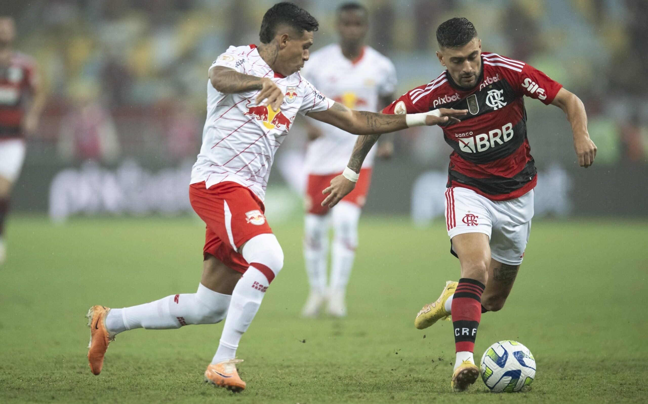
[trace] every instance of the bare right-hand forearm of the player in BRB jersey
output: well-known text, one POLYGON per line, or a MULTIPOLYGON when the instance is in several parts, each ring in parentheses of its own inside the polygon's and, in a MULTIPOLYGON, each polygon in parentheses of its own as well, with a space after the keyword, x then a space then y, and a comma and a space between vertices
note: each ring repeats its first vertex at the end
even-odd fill
POLYGON ((594 164, 596 145, 587 131, 587 114, 583 101, 572 92, 560 89, 551 104, 562 109, 572 125, 573 148, 578 156, 578 164, 585 168, 594 164))

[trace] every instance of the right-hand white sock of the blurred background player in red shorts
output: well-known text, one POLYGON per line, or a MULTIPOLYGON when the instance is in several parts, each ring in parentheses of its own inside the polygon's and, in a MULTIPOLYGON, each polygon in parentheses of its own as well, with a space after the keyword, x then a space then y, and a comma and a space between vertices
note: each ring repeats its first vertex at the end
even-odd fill
POLYGON ((330 287, 334 292, 344 293, 351 277, 358 246, 360 212, 360 207, 349 202, 340 202, 331 209, 334 239, 330 287))

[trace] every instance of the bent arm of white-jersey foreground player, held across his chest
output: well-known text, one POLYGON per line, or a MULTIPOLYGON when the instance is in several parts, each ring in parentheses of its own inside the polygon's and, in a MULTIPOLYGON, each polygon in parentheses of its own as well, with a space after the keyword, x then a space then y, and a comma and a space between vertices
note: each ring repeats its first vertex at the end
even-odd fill
POLYGON ((277 111, 283 102, 284 92, 269 78, 250 76, 224 66, 214 66, 209 69, 209 81, 214 89, 223 94, 237 94, 260 90, 257 104, 270 105, 277 111))

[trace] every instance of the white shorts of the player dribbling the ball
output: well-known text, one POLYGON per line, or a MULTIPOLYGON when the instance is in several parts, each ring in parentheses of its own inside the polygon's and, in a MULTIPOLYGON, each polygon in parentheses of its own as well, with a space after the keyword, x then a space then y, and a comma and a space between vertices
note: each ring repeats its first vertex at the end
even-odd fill
POLYGON ((508 265, 522 263, 531 233, 533 189, 522 197, 502 201, 462 187, 450 187, 445 195, 450 240, 458 234, 484 233, 491 240, 493 259, 508 265))

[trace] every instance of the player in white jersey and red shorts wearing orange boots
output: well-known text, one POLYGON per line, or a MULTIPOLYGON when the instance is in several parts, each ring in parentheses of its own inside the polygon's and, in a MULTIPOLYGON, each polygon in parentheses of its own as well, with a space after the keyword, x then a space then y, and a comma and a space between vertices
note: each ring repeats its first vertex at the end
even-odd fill
POLYGON ((459 122, 456 117, 467 113, 378 114, 353 111, 326 98, 299 73, 317 28, 306 10, 277 3, 263 17, 259 47, 229 47, 210 67, 203 144, 189 187, 192 207, 207 224, 198 291, 121 309, 91 307, 88 360, 93 374, 101 372, 108 344, 120 332, 214 324, 227 317, 205 381, 243 390, 246 383, 236 368, 242 360, 235 359, 238 343, 283 266, 263 198, 275 151, 297 113, 355 134, 459 122))

